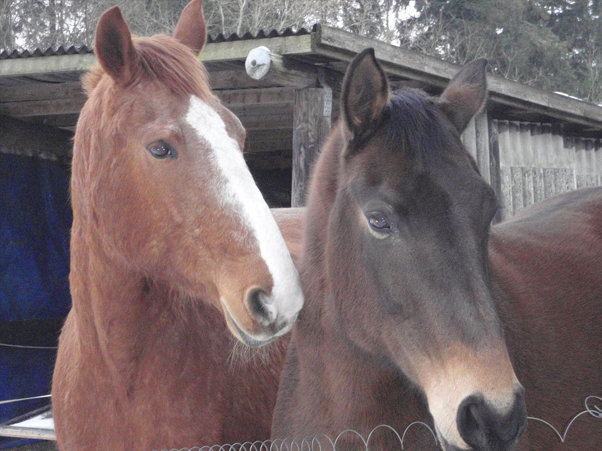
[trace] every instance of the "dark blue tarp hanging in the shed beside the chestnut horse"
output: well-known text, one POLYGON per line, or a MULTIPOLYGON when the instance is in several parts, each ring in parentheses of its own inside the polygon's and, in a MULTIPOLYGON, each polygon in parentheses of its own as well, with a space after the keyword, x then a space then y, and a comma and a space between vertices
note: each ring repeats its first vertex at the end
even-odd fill
MULTIPOLYGON (((57 345, 70 308, 69 176, 59 162, 0 154, 0 343, 57 345)), ((0 346, 0 400, 50 393, 55 354, 0 346)), ((45 404, 0 405, 0 423, 45 404)))

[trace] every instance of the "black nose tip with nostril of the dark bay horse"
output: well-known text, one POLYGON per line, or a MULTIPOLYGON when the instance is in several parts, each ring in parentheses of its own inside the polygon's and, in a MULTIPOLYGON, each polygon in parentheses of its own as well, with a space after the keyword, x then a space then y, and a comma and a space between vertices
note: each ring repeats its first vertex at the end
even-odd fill
POLYGON ((462 439, 476 450, 509 450, 523 434, 527 411, 522 388, 515 394, 514 404, 500 414, 483 400, 471 395, 458 408, 456 423, 462 439))

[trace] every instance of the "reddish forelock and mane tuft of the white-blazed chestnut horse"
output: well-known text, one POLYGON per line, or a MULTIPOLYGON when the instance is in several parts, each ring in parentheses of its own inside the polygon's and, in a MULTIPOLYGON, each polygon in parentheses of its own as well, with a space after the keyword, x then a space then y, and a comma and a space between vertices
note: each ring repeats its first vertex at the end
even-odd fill
MULTIPOLYGON (((194 94, 203 100, 211 99, 205 67, 187 46, 164 34, 136 37, 132 42, 140 64, 132 84, 147 78, 161 81, 178 95, 194 94)), ((88 97, 104 75, 104 70, 97 63, 82 76, 82 86, 88 97)))

